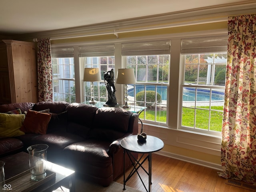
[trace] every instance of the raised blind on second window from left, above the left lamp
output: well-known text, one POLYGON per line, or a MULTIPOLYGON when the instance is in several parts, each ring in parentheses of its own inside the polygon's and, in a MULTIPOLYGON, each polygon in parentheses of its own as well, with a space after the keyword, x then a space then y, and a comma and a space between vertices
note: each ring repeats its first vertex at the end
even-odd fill
POLYGON ((114 44, 79 46, 79 57, 114 56, 114 44))

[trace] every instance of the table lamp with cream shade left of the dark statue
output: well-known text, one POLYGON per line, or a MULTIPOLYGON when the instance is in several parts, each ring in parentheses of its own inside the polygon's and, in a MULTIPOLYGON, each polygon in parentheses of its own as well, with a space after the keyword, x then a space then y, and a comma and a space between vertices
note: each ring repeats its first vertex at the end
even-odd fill
POLYGON ((91 82, 91 98, 90 104, 95 104, 93 95, 93 82, 101 81, 100 68, 84 68, 84 81, 91 82))

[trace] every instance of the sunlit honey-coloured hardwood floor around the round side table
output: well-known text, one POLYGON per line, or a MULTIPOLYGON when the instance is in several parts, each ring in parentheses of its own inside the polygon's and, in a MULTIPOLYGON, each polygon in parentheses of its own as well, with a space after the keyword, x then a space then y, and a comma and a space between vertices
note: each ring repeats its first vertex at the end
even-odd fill
MULTIPOLYGON (((145 162, 147 165, 147 162, 145 162)), ((144 167, 147 167, 145 166, 144 167)), ((126 176, 130 173, 129 169, 126 176)), ((148 169, 146 169, 148 170, 148 169)), ((148 188, 148 175, 138 170, 148 188)), ((115 180, 123 184, 123 176, 115 180)), ((152 154, 152 185, 151 192, 251 192, 236 186, 225 184, 226 179, 220 178, 217 171, 211 168, 188 162, 152 154)), ((127 186, 142 192, 146 191, 140 178, 134 174, 126 183, 127 186)))

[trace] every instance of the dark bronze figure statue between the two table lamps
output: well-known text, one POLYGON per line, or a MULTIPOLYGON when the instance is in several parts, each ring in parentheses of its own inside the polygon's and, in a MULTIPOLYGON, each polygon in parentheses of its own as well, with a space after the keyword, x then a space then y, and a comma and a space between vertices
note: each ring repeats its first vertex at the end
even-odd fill
POLYGON ((118 103, 116 101, 116 95, 115 95, 116 88, 114 85, 114 69, 111 69, 111 71, 105 72, 104 82, 108 90, 108 101, 106 102, 106 105, 110 107, 118 106, 118 103))

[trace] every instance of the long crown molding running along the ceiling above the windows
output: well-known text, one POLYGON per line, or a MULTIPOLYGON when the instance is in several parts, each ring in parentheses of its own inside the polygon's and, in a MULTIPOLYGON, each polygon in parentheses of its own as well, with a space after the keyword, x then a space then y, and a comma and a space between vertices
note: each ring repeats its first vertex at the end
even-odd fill
POLYGON ((118 33, 227 21, 228 16, 253 14, 256 13, 255 10, 256 0, 253 0, 249 2, 224 4, 220 6, 197 8, 127 20, 116 20, 114 22, 78 26, 74 28, 22 34, 12 36, 12 38, 18 40, 33 38, 64 39, 107 34, 113 34, 118 38, 118 33))

